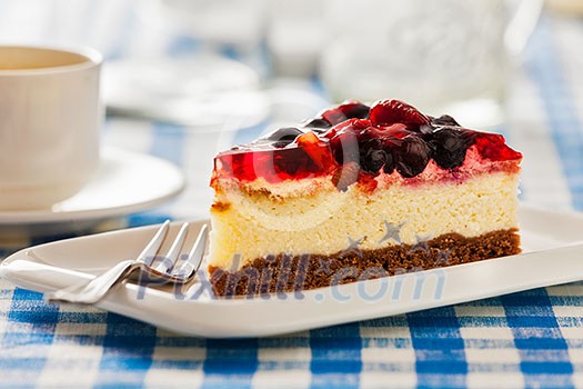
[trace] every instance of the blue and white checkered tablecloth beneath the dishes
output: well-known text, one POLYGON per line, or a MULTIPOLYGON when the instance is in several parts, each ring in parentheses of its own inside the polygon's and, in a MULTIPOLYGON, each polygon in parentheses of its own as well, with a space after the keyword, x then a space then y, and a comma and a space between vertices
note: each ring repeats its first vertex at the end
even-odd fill
MULTIPOLYGON (((582 42, 583 21, 543 18, 509 96, 503 130, 525 154, 522 196, 552 208, 583 210, 582 42)), ((129 50, 127 41, 108 44, 109 58, 129 50)), ((218 139, 109 119, 105 144, 169 159, 190 181, 178 199, 124 223, 203 217, 217 149, 262 130, 218 139)), ((0 387, 142 386, 583 387, 583 283, 282 337, 212 340, 91 307, 47 305, 41 295, 0 280, 0 387)))

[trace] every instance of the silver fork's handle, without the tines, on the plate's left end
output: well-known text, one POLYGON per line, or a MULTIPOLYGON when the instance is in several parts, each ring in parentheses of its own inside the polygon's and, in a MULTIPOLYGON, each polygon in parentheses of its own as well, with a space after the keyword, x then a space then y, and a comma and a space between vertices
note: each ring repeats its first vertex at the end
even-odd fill
POLYGON ((124 260, 89 282, 83 280, 64 289, 46 293, 44 297, 49 301, 96 303, 139 266, 133 259, 124 260))

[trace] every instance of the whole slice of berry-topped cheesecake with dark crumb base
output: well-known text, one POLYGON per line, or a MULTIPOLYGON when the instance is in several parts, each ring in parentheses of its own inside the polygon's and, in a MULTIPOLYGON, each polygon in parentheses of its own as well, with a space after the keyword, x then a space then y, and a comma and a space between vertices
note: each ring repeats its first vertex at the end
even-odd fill
POLYGON ((349 101, 219 153, 217 296, 305 290, 520 252, 522 154, 399 101, 349 101))

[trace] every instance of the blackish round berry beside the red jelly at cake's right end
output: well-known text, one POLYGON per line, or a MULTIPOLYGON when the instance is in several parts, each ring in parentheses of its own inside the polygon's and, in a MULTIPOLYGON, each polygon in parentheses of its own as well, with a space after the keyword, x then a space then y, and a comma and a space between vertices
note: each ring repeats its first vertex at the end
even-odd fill
POLYGON ((466 131, 442 127, 432 134, 430 142, 433 146, 432 157, 440 168, 458 168, 463 163, 465 152, 473 142, 473 137, 466 131))

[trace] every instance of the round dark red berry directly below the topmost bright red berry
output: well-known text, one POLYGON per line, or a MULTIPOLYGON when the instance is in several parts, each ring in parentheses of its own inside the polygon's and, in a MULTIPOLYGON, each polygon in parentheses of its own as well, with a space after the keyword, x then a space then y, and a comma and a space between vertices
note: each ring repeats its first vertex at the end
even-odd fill
POLYGON ((431 148, 420 137, 411 134, 400 141, 394 148, 395 168, 405 178, 420 174, 429 163, 431 148))

